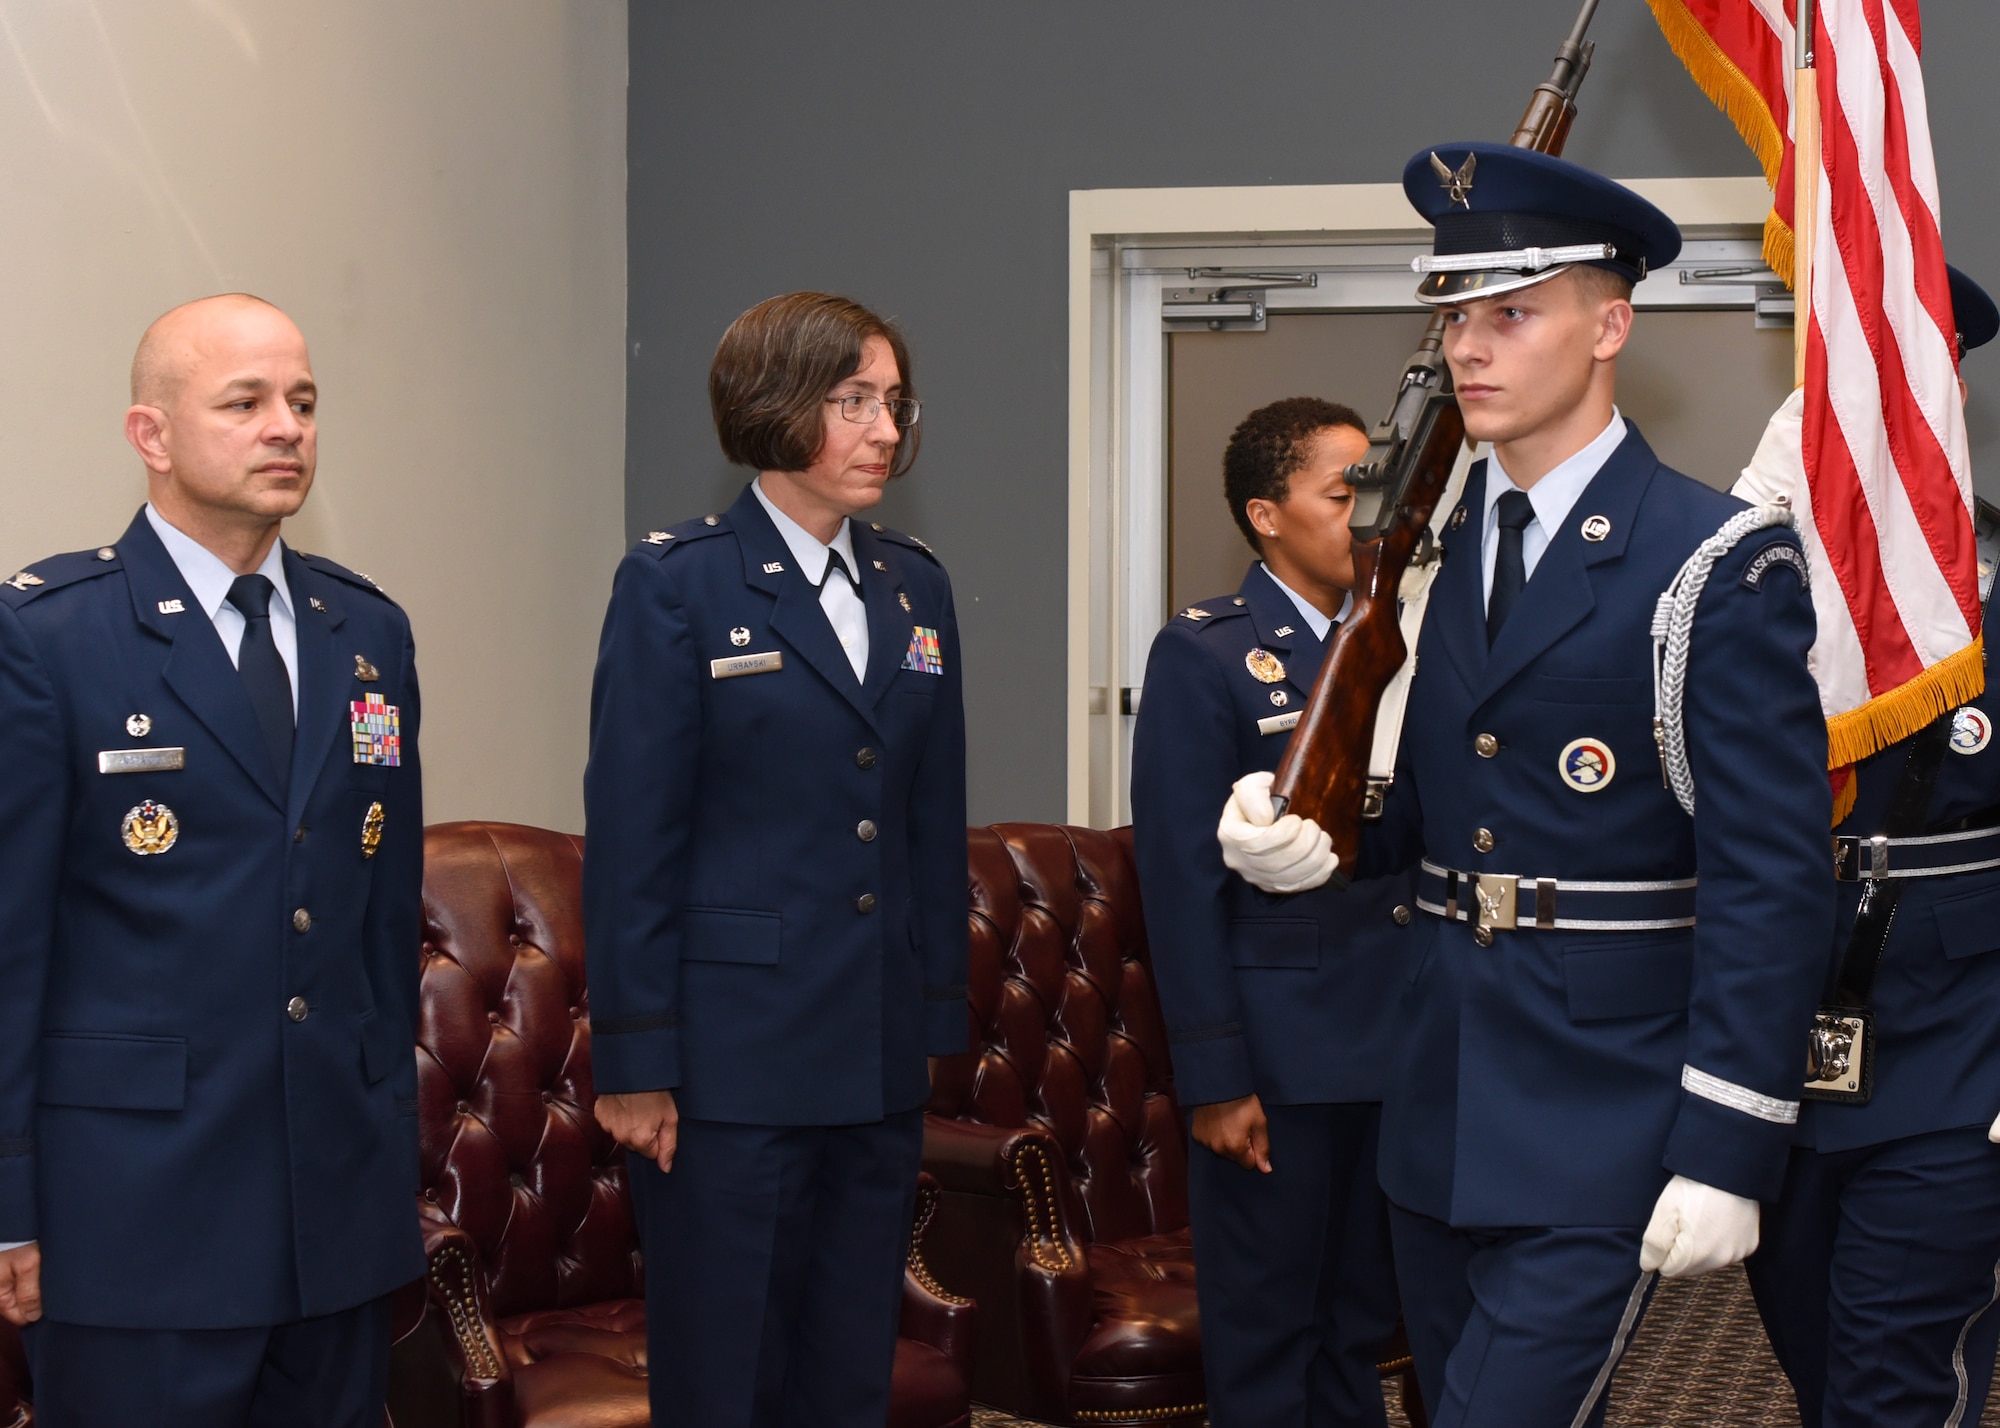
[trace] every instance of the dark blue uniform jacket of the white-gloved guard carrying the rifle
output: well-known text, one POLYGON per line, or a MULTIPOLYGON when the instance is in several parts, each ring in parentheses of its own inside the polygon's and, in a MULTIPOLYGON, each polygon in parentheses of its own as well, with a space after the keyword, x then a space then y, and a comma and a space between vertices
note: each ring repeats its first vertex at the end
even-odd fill
POLYGON ((1654 744, 1650 624, 1680 564, 1744 504, 1662 466, 1634 428, 1488 648, 1484 484, 1480 462, 1466 518, 1446 522, 1368 858, 1578 882, 1698 878, 1696 922, 1522 926, 1482 948, 1466 922, 1422 916, 1382 1188, 1460 1226, 1638 1226, 1670 1174, 1774 1198, 1834 908, 1798 540, 1752 532, 1702 594, 1690 818, 1654 744), (1788 554, 1758 562, 1770 548, 1788 554), (1576 740, 1610 752, 1610 778, 1564 776, 1576 740))

